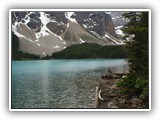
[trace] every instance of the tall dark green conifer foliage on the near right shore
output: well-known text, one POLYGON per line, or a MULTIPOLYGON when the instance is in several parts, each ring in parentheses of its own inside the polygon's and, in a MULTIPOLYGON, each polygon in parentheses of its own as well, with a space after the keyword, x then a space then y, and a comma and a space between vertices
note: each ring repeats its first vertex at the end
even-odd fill
POLYGON ((148 12, 131 12, 124 16, 130 20, 124 30, 129 34, 135 34, 135 38, 133 42, 126 44, 129 74, 117 85, 121 87, 123 94, 137 95, 142 100, 148 100, 148 12))

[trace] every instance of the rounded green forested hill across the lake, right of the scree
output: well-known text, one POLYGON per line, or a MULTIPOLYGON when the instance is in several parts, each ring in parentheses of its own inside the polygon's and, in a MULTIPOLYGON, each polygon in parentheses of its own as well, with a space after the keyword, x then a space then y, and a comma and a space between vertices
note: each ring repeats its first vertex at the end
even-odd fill
POLYGON ((53 53, 56 59, 85 59, 85 58, 125 58, 123 46, 101 46, 95 43, 72 45, 63 51, 53 53))

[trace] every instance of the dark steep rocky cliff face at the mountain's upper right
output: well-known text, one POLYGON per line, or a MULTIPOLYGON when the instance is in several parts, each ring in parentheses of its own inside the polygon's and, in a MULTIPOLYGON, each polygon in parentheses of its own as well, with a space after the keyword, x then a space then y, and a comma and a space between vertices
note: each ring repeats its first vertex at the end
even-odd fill
POLYGON ((87 30, 94 31, 100 36, 109 33, 115 36, 115 29, 109 14, 105 12, 75 12, 73 16, 87 30))

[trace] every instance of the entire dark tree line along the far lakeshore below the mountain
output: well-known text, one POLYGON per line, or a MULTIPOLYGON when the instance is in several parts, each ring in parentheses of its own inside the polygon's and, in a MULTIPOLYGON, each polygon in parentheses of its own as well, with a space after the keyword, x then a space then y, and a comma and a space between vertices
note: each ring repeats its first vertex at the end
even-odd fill
POLYGON ((83 43, 67 47, 51 56, 40 57, 19 50, 19 39, 12 32, 12 60, 32 59, 87 59, 87 58, 126 58, 125 49, 120 45, 101 46, 96 43, 83 43))

